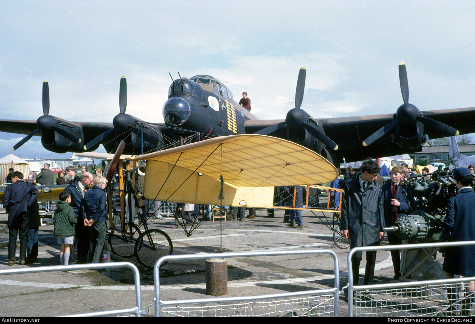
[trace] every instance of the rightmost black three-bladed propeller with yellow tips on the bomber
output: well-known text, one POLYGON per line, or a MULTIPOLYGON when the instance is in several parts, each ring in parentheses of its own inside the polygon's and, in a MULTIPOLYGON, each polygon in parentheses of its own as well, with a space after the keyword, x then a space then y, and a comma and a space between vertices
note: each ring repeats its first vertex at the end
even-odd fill
POLYGON ((421 116, 419 109, 415 105, 409 104, 408 74, 406 71, 406 64, 404 62, 399 63, 399 85, 401 87, 402 100, 404 101, 404 104, 399 106, 395 114, 395 119, 392 122, 384 125, 363 141, 364 146, 374 143, 381 136, 388 133, 397 124, 402 126, 412 126, 417 122, 420 122, 421 124, 435 129, 438 132, 446 133, 449 136, 458 136, 459 132, 455 128, 437 122, 436 120, 421 116))

